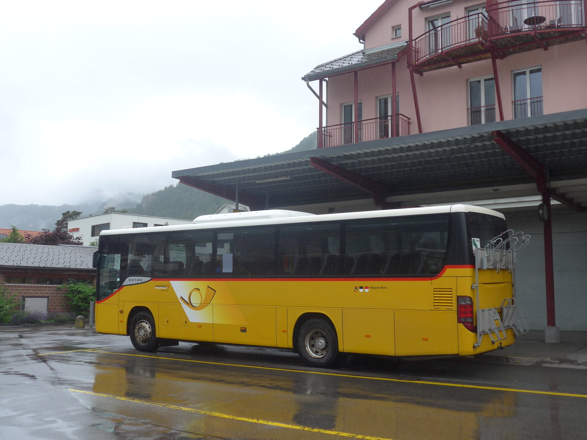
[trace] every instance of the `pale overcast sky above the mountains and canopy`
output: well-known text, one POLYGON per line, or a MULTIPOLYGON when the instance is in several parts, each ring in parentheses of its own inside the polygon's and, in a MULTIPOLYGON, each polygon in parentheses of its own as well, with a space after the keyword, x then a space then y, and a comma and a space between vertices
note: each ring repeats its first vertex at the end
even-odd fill
POLYGON ((382 2, 0 0, 0 205, 294 147, 318 125, 301 77, 359 50, 382 2))

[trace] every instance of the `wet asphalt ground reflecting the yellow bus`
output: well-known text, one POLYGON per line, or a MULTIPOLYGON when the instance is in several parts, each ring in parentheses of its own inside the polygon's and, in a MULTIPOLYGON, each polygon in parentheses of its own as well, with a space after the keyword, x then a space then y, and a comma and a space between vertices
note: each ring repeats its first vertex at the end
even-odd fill
POLYGON ((581 370, 471 359, 295 354, 180 344, 140 354, 91 330, 0 331, 0 436, 31 438, 569 438, 581 370))

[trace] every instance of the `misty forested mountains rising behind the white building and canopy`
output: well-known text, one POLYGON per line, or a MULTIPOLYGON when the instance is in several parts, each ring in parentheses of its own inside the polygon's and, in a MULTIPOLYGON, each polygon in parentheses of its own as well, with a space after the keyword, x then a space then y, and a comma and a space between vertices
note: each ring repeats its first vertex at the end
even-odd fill
MULTIPOLYGON (((312 150, 316 148, 317 141, 318 135, 314 131, 295 147, 276 154, 312 150)), ((192 220, 198 215, 212 214, 227 202, 221 197, 178 183, 151 194, 126 193, 106 201, 88 201, 79 205, 0 205, 0 228, 8 229, 14 225, 22 231, 53 230, 62 212, 80 211, 81 216, 85 217, 102 214, 109 207, 115 207, 117 211, 126 209, 130 214, 192 220)))

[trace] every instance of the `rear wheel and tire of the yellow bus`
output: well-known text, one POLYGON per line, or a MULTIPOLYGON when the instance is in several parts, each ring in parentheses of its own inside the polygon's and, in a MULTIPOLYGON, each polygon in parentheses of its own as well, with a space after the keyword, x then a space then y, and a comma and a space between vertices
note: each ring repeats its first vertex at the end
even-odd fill
POLYGON ((336 330, 328 321, 312 318, 299 328, 298 353, 311 367, 328 368, 339 358, 336 330))

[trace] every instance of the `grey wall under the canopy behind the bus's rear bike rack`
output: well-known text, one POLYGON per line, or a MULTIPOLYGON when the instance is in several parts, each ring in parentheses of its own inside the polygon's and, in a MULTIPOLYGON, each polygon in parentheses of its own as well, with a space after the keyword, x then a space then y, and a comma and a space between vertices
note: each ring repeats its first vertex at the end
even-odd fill
MULTIPOLYGON (((532 238, 517 261, 518 304, 530 329, 546 326, 544 232, 537 211, 506 213, 508 226, 532 238)), ((566 208, 552 212, 556 325, 587 331, 587 213, 566 208)))

